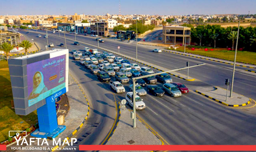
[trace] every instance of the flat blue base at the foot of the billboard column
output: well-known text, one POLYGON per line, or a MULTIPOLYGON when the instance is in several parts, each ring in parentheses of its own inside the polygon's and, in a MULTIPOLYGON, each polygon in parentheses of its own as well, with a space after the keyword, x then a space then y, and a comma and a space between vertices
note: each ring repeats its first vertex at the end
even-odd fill
POLYGON ((56 138, 61 132, 63 132, 66 129, 66 126, 58 125, 58 128, 53 130, 51 133, 46 133, 46 132, 40 132, 39 129, 35 130, 32 132, 30 135, 38 138, 56 138))

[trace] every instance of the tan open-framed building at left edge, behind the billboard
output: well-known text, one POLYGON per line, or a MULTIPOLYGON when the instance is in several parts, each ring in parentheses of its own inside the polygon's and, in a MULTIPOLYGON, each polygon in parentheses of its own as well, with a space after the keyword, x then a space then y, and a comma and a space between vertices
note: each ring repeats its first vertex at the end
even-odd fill
POLYGON ((4 42, 10 43, 14 46, 18 46, 20 43, 20 34, 17 32, 4 31, 0 33, 0 45, 4 42))

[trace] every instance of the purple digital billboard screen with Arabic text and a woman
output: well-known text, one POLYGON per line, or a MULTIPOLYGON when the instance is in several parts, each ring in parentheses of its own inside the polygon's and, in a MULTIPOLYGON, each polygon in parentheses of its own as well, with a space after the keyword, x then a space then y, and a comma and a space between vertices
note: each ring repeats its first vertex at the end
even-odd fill
POLYGON ((27 64, 28 106, 66 87, 66 55, 27 64))

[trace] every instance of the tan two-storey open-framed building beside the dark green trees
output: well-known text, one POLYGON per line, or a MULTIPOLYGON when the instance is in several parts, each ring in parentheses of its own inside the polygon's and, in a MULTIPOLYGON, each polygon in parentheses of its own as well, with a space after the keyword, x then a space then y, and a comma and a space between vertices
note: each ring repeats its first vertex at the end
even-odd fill
POLYGON ((186 38, 186 44, 190 45, 190 30, 191 28, 185 26, 163 26, 164 43, 182 43, 184 45, 186 38))

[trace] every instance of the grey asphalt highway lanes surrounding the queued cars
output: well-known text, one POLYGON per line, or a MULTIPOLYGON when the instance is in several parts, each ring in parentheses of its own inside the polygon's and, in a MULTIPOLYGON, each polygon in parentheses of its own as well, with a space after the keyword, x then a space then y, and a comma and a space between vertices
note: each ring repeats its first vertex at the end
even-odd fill
MULTIPOLYGON (((46 38, 38 38, 37 34, 30 32, 26 34, 28 39, 34 38, 38 45, 45 46, 46 38)), ((68 38, 74 38, 74 35, 66 35, 68 38)), ((63 38, 49 36, 49 43, 53 42, 55 45, 64 43, 63 38)), ((77 36, 77 39, 89 44, 97 44, 95 38, 77 36)), ((85 44, 79 46, 73 45, 74 41, 67 40, 67 47, 69 50, 83 51, 85 44)), ((110 41, 106 39, 105 43, 100 43, 101 47, 114 50, 116 46, 120 46, 123 54, 133 55, 134 44, 123 44, 121 42, 110 41)), ((89 48, 93 48, 88 46, 89 48)), ((55 48, 63 48, 56 46, 55 48)), ((225 76, 231 73, 230 65, 221 64, 200 60, 196 58, 188 58, 175 54, 156 54, 150 52, 150 47, 139 46, 138 58, 141 60, 150 61, 154 64, 162 64, 165 68, 180 68, 186 65, 186 60, 190 61, 191 65, 201 62, 207 63, 206 66, 191 69, 190 76, 200 79, 201 81, 188 82, 180 78, 172 77, 174 82, 184 83, 188 88, 194 86, 204 86, 214 84, 215 86, 222 86, 224 84, 225 76), (216 78, 214 77, 216 76, 216 78), (220 79, 223 78, 223 82, 220 79)), ((133 55, 134 57, 134 55, 133 55)), ((132 62, 132 61, 130 61, 132 62)), ((142 66, 141 64, 139 64, 142 66)), ((238 69, 244 69, 237 67, 238 69)), ((79 130, 76 138, 81 137, 86 132, 92 132, 94 136, 88 136, 79 144, 100 144, 110 131, 115 119, 115 94, 107 83, 101 83, 97 80, 95 75, 90 74, 79 64, 78 61, 70 59, 70 70, 72 75, 78 80, 86 95, 89 97, 90 111, 89 120, 86 122, 86 127, 79 130), (98 128, 92 128, 92 124, 99 121, 98 128), (102 125, 102 126, 100 126, 102 125), (90 142, 90 141, 91 142, 90 142)), ((156 71, 156 70, 154 70, 156 71)), ((186 74, 186 71, 180 71, 186 74)), ((243 72, 236 72, 236 92, 241 94, 248 94, 248 96, 255 96, 252 87, 255 84, 254 76, 248 76, 243 72), (246 90, 244 86, 251 88, 246 90), (250 86, 252 85, 252 86, 250 86), (238 88, 241 87, 241 88, 238 88)), ((112 78, 112 80, 114 80, 112 78)), ((131 81, 130 83, 131 84, 131 81)), ((126 92, 128 92, 128 85, 125 84, 126 92)), ((158 83, 161 86, 161 83, 158 83)), ((125 93, 115 94, 118 98, 123 99, 125 93)), ((255 108, 250 109, 232 109, 222 106, 204 98, 193 91, 188 94, 182 94, 181 97, 173 98, 165 94, 163 97, 155 97, 151 94, 142 96, 147 108, 138 110, 138 116, 149 124, 158 134, 164 139, 165 144, 256 144, 255 137, 255 108)))

